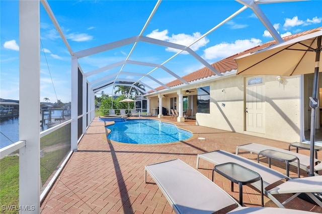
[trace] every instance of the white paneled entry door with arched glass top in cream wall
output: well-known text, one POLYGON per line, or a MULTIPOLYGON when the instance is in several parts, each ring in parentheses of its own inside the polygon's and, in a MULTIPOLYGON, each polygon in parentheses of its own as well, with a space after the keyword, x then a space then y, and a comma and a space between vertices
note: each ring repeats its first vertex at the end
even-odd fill
POLYGON ((246 85, 246 130, 265 133, 265 93, 263 78, 247 78, 246 85))

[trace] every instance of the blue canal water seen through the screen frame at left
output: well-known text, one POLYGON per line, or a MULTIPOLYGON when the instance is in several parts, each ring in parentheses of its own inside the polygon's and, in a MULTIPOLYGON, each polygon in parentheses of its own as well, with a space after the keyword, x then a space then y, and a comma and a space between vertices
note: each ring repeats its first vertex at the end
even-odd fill
MULTIPOLYGON (((41 123, 39 123, 40 131, 48 129, 48 112, 44 114, 45 123, 43 128, 41 123)), ((51 118, 54 121, 54 118, 61 117, 61 110, 51 111, 51 118)), ((41 114, 40 114, 41 119, 41 114)), ((58 122, 59 123, 59 122, 58 122)), ((0 148, 8 146, 12 143, 15 143, 19 140, 19 118, 0 121, 0 148)))

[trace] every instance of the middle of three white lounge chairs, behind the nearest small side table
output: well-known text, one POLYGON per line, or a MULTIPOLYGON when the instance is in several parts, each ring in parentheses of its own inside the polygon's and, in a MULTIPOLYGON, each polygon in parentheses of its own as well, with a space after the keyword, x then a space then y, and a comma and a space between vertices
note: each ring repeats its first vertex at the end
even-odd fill
MULTIPOLYGON (((291 179, 286 175, 264 166, 260 163, 257 163, 253 160, 247 159, 245 157, 238 156, 236 154, 232 154, 223 150, 216 150, 211 152, 206 152, 197 155, 197 168, 199 168, 199 159, 204 159, 208 162, 211 162, 215 165, 232 162, 243 165, 246 168, 249 168, 257 173, 259 173, 263 179, 263 187, 264 187, 264 194, 269 197, 277 206, 285 208, 284 205, 292 200, 295 196, 291 196, 284 202, 280 202, 273 196, 273 194, 284 194, 284 193, 305 193, 309 196, 312 200, 316 202, 319 206, 322 207, 322 202, 318 200, 313 193, 314 192, 322 192, 322 180, 320 176, 315 176, 316 178, 295 178, 291 179), (315 182, 312 182, 312 180, 315 182), (277 185, 275 188, 266 189, 272 184, 277 182, 281 182, 282 180, 287 180, 285 183, 277 185), (290 182, 290 183, 288 183, 290 182), (301 185, 303 183, 303 185, 301 185), (296 184, 296 185, 295 185, 296 184), (305 185, 304 185, 305 184, 305 185)), ((261 189, 261 184, 259 181, 251 183, 257 189, 261 189)))

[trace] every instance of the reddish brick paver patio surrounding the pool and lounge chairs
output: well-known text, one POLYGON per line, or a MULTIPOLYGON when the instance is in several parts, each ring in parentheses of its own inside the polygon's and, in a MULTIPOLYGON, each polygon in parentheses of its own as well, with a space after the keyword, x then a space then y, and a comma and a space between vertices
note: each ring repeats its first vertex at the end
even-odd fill
MULTIPOLYGON (((217 149, 235 152, 236 146, 257 142, 287 149, 288 144, 244 134, 195 125, 195 120, 178 123, 165 117, 181 128, 190 130, 190 140, 163 145, 131 145, 107 140, 104 122, 95 118, 87 134, 78 144, 59 178, 41 204, 42 213, 174 213, 167 199, 147 175, 144 183, 144 166, 160 161, 180 158, 196 168, 197 154, 217 149), (198 137, 205 138, 204 140, 198 137)), ((294 148, 295 151, 295 148, 294 148)), ((308 150, 300 153, 307 154, 308 150)), ((257 161, 257 155, 242 152, 240 155, 257 161)), ((322 159, 322 154, 318 154, 322 159)), ((261 161, 262 164, 267 164, 261 161)), ((211 179, 213 164, 200 160, 199 171, 211 179)), ((272 160, 272 168, 285 173, 285 163, 272 160)), ((290 176, 297 176, 296 168, 290 166, 290 176)), ((301 176, 307 176, 301 170, 301 176)), ((238 200, 237 186, 230 191, 230 181, 215 173, 215 183, 238 200)), ((235 184, 237 185, 237 184, 235 184)), ((260 193, 244 186, 245 206, 260 206, 260 193)), ((288 195, 290 196, 290 195, 288 195)), ((285 196, 276 196, 281 201, 285 196)), ((276 207, 264 196, 264 205, 276 207)), ((322 208, 295 198, 287 208, 322 213, 322 208)))

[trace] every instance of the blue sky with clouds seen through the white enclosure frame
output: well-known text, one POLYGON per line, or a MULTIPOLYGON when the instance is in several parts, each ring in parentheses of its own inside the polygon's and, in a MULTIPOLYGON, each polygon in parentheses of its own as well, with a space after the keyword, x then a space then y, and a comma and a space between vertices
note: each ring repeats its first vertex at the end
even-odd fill
MULTIPOLYGON (((48 1, 73 52, 138 36, 156 1, 48 1)), ((143 36, 181 45, 189 45, 224 19, 242 8, 235 1, 163 1, 143 32, 143 36)), ((287 2, 260 5, 270 22, 283 36, 321 26, 322 1, 287 2)), ((0 1, 0 97, 19 99, 19 3, 0 1)), ((70 55, 58 32, 40 4, 41 96, 51 102, 70 101, 70 55)), ((191 48, 209 64, 273 40, 251 9, 220 26, 191 48)), ((83 71, 90 72, 129 55, 133 44, 121 46, 79 60, 83 71)), ((177 50, 139 42, 129 59, 162 64, 177 50)), ((182 53, 165 66, 179 76, 202 67, 189 54, 182 53)), ((126 64, 89 77, 94 81, 118 72, 147 73, 153 68, 126 64)), ((123 75, 137 80, 138 76, 123 75)), ((156 69, 151 76, 168 83, 175 78, 156 69)), ((28 80, 23 80, 28 81, 28 80)), ((156 88, 148 78, 143 82, 156 88)), ((149 89, 148 89, 149 90, 149 89)), ((104 89, 110 93, 111 88, 104 89)))

